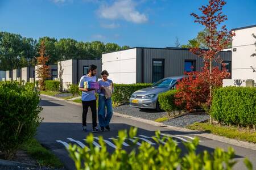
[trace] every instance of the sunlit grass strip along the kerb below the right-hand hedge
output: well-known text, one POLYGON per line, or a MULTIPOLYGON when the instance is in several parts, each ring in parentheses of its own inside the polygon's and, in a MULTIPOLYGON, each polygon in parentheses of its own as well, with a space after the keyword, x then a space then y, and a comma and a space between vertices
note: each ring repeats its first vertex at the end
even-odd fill
POLYGON ((256 143, 256 131, 247 130, 245 128, 237 129, 234 126, 220 126, 217 124, 211 125, 209 122, 195 123, 187 126, 187 128, 191 130, 209 131, 212 134, 223 137, 256 143))

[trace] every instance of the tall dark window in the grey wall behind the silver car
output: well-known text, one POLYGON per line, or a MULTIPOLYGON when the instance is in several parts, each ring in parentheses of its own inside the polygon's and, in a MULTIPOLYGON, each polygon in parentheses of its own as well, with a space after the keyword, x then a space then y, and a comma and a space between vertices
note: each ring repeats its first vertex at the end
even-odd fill
POLYGON ((164 78, 164 59, 153 59, 152 82, 164 78))

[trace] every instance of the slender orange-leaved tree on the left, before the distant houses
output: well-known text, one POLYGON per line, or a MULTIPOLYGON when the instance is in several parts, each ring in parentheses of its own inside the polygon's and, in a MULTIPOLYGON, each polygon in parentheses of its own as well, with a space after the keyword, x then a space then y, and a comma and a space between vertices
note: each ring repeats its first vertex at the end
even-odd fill
POLYGON ((40 90, 46 90, 46 84, 44 83, 49 75, 49 66, 46 63, 49 61, 49 57, 46 56, 46 46, 44 45, 44 41, 41 41, 39 47, 39 57, 36 58, 38 63, 38 69, 36 70, 36 74, 38 74, 38 84, 40 90))

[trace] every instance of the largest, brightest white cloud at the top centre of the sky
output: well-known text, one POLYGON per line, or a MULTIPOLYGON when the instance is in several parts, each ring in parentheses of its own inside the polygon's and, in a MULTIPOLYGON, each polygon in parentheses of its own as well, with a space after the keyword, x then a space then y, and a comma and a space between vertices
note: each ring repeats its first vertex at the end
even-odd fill
POLYGON ((105 19, 124 19, 133 23, 145 23, 148 18, 136 10, 136 3, 132 0, 117 0, 112 5, 102 4, 98 14, 105 19))

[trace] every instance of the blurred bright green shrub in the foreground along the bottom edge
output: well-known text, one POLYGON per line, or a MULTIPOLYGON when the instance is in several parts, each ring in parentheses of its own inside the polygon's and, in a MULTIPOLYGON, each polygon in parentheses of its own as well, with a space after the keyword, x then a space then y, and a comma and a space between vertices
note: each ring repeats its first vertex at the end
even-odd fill
MULTIPOLYGON (((216 148, 212 154, 203 151, 197 154, 196 148, 199 139, 184 143, 187 154, 181 154, 181 149, 170 137, 160 138, 160 132, 156 131, 154 141, 158 147, 150 143, 142 142, 138 150, 131 145, 131 151, 122 148, 127 138, 134 138, 136 128, 131 128, 129 135, 126 130, 118 132, 118 138, 113 139, 117 148, 110 154, 102 137, 99 137, 101 147, 93 145, 93 134, 86 137, 89 147, 81 148, 77 145, 69 146, 69 155, 75 162, 76 169, 105 169, 105 170, 130 170, 130 169, 232 169, 236 164, 233 148, 225 152, 222 148, 216 148), (165 144, 163 144, 165 142, 165 144)), ((245 165, 250 169, 251 162, 245 159, 245 165)), ((252 168, 251 168, 252 169, 252 168)))

